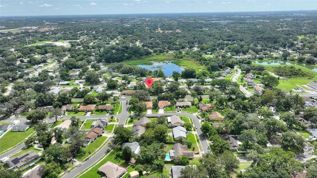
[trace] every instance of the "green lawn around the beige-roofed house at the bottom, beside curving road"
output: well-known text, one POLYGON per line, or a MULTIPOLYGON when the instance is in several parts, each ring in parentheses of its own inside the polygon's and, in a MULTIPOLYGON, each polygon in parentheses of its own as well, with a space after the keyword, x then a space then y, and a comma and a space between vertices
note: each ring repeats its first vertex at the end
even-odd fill
POLYGON ((91 170, 86 172, 85 174, 81 175, 79 178, 101 178, 101 175, 98 174, 98 168, 104 165, 107 161, 111 161, 114 164, 120 164, 124 167, 128 165, 125 163, 124 160, 117 158, 115 155, 118 153, 118 150, 112 151, 108 156, 106 156, 100 163, 94 165, 91 170))

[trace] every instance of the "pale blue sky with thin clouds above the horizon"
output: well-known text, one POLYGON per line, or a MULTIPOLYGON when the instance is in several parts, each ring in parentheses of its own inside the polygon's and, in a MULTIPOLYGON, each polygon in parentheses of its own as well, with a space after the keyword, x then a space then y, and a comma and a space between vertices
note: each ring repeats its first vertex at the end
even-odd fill
POLYGON ((316 10, 317 0, 0 0, 1 16, 316 10))

